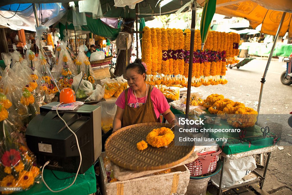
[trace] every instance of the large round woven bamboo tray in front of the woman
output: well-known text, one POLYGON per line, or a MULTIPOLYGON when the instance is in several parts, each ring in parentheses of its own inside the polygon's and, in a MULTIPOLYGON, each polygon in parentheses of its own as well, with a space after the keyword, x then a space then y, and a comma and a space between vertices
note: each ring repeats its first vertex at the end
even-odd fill
POLYGON ((114 132, 105 142, 105 152, 109 159, 120 167, 146 171, 168 169, 190 157, 195 146, 175 146, 174 140, 167 148, 154 148, 148 144, 145 150, 138 150, 136 144, 146 140, 152 129, 169 127, 164 123, 141 123, 126 126, 114 132))

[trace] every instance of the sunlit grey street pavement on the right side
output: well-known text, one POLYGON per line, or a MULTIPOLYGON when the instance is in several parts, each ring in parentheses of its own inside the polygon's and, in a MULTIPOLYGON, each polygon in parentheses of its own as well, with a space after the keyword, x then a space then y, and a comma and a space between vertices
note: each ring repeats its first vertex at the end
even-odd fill
MULTIPOLYGON (((226 85, 201 86, 197 90, 202 92, 203 98, 218 93, 257 110, 260 81, 266 64, 267 58, 257 57, 239 69, 228 68, 225 76, 228 80, 226 85)), ((292 111, 292 85, 283 85, 280 81, 281 73, 286 70, 284 66, 286 67, 286 63, 279 62, 278 59, 272 59, 270 63, 263 88, 259 120, 259 126, 269 126, 272 133, 281 136, 281 141, 277 145, 284 147, 283 150, 277 149, 272 153, 263 188, 268 194, 275 195, 292 194, 292 128, 287 123, 291 115, 289 112, 292 111)), ((258 190, 256 194, 263 194, 259 192, 258 184, 252 185, 251 189, 258 190)), ((226 191, 227 194, 230 192, 226 191)), ((241 193, 232 191, 230 194, 241 193)))

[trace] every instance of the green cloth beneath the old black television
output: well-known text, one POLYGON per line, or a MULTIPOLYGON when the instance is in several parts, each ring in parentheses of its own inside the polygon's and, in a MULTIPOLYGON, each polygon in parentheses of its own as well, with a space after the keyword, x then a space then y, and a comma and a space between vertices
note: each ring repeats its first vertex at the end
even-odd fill
MULTIPOLYGON (((61 171, 53 171, 55 175, 58 178, 66 178, 71 175, 74 175, 72 173, 67 173, 67 172, 61 172, 61 171)), ((69 179, 65 180, 59 180, 57 179, 51 172, 51 170, 44 169, 44 179, 45 182, 48 184, 48 186, 54 190, 60 190, 63 189, 67 186, 69 186, 73 181, 74 177, 71 177, 69 179)), ((34 186, 27 190, 27 191, 22 191, 18 193, 19 195, 36 195, 36 194, 41 194, 41 195, 73 195, 73 194, 78 194, 78 195, 88 195, 88 194, 93 194, 96 192, 96 178, 95 178, 95 172, 93 165, 82 175, 78 175, 75 183, 69 187, 68 189, 65 189, 64 191, 61 192, 51 192, 44 184, 44 182, 40 182, 39 184, 34 184, 34 186)))

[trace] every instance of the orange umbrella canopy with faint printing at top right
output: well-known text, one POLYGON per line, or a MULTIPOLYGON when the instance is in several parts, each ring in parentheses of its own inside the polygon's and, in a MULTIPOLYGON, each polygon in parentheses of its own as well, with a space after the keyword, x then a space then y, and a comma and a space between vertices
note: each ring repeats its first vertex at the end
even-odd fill
MULTIPOLYGON (((198 3, 204 5, 204 0, 198 0, 198 3)), ((216 4, 216 13, 245 18, 254 29, 263 24, 261 33, 269 35, 276 35, 283 12, 288 12, 279 36, 283 37, 289 29, 289 37, 292 37, 291 0, 217 0, 216 4)))

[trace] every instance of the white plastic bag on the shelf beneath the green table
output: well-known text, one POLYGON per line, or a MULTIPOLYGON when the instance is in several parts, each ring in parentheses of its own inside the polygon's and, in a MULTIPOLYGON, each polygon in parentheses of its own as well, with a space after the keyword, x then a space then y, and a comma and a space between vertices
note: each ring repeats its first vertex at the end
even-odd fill
MULTIPOLYGON (((222 187, 225 188, 233 186, 234 184, 238 184, 238 181, 240 181, 255 169, 256 160, 253 158, 253 156, 227 160, 224 165, 222 187)), ((212 183, 216 186, 219 186, 220 175, 221 171, 211 177, 212 183)))

